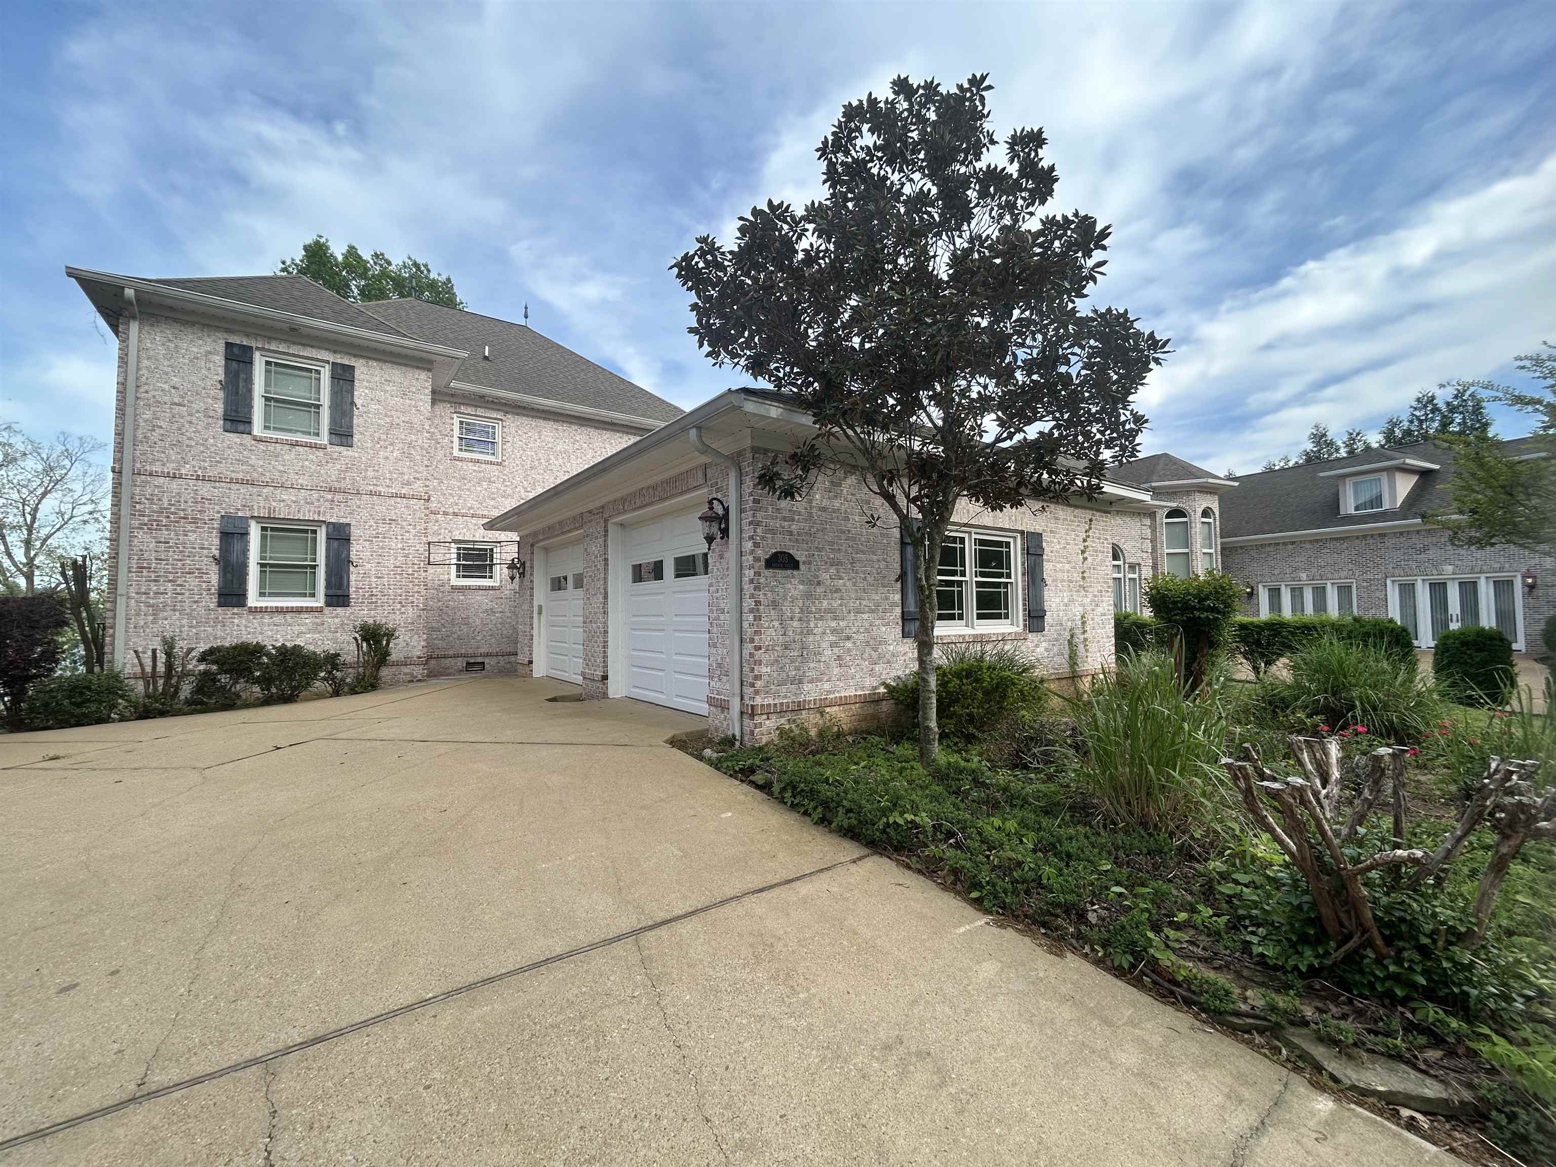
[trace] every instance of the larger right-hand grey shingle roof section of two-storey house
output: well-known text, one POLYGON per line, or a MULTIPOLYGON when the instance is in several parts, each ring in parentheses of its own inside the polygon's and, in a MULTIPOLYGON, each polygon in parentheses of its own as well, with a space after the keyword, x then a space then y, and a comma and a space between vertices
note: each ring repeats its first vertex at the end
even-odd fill
POLYGON ((363 308, 411 336, 470 353, 454 370, 454 389, 492 389, 649 422, 685 412, 523 324, 425 300, 375 300, 363 308))

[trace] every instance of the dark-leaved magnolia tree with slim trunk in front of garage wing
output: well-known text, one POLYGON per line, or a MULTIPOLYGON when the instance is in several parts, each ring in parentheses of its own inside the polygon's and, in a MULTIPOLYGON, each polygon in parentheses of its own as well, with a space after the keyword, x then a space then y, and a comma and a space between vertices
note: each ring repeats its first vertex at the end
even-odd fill
POLYGON ((1127 311, 1085 307, 1111 229, 1043 212, 1058 182, 1043 131, 1013 131, 1001 159, 990 92, 896 78, 843 106, 817 148, 820 199, 753 207, 733 246, 703 235, 674 263, 699 347, 814 419, 758 487, 800 498, 817 475, 859 475, 912 541, 926 764, 952 512, 1094 496, 1136 454, 1133 398, 1167 352, 1127 311))

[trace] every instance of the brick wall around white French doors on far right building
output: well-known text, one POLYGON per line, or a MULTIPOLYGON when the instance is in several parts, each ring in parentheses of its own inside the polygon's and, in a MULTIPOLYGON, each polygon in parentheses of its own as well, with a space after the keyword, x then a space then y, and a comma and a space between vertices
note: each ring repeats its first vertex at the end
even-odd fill
POLYGON ((1259 591, 1265 584, 1301 580, 1355 580, 1357 615, 1386 616, 1386 582, 1419 576, 1484 576, 1533 568, 1537 585, 1519 584, 1523 604, 1525 649, 1542 647, 1540 632, 1556 612, 1556 559, 1531 555, 1517 548, 1456 548, 1449 532, 1436 527, 1380 531, 1372 535, 1251 543, 1225 548, 1226 569, 1256 588, 1246 612, 1259 615, 1259 591))

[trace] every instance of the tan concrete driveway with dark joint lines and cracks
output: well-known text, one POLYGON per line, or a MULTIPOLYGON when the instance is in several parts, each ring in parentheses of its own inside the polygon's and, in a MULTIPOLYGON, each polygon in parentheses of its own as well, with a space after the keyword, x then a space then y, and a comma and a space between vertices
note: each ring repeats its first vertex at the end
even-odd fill
POLYGON ((0 1164, 1452 1162, 566 691, 0 738, 0 1164))

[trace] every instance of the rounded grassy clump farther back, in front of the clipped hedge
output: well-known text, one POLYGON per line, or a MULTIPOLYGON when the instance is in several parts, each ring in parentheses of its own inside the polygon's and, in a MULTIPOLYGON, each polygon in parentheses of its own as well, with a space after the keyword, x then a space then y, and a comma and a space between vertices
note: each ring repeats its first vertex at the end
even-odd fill
POLYGON ((1441 700, 1414 668, 1365 643, 1324 636, 1291 657, 1291 677, 1265 680, 1259 703, 1290 730, 1366 727, 1383 741, 1416 744, 1435 731, 1441 700))

